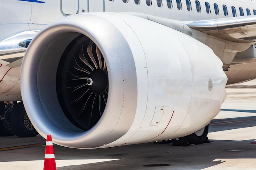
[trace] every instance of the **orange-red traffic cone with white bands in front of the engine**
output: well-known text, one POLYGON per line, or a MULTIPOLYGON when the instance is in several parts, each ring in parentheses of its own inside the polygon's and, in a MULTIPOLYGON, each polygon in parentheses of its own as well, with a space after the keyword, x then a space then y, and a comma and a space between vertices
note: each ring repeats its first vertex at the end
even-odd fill
POLYGON ((45 146, 45 163, 43 170, 56 170, 55 156, 52 144, 52 135, 47 135, 45 146))

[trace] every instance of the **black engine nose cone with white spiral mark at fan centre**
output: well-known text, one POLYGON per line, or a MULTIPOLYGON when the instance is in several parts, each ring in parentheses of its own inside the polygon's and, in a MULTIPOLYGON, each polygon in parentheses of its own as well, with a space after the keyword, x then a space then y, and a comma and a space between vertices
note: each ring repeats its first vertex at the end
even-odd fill
POLYGON ((87 79, 89 89, 95 94, 103 93, 108 86, 108 75, 106 71, 95 69, 87 79))

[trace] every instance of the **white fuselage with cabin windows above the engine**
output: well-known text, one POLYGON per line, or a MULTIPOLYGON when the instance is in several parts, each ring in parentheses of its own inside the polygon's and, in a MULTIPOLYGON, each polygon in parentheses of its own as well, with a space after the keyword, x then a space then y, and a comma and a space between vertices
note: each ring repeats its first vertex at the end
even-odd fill
POLYGON ((77 13, 138 12, 173 20, 207 20, 255 15, 251 0, 2 0, 0 41, 77 13), (127 3, 126 3, 127 2, 127 3))

